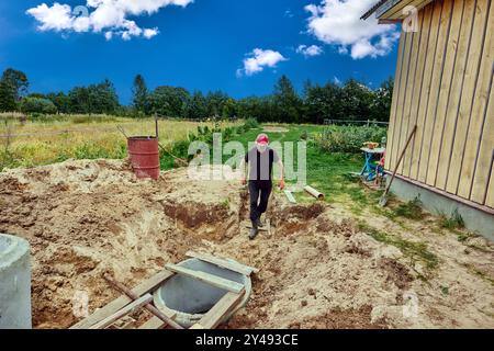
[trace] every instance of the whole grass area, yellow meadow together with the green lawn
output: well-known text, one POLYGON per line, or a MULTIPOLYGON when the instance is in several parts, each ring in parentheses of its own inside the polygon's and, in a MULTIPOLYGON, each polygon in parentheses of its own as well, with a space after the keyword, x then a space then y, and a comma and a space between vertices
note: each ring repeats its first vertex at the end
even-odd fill
MULTIPOLYGON (((35 167, 60 162, 67 159, 122 159, 127 156, 125 137, 117 131, 122 126, 127 135, 154 135, 151 118, 132 120, 106 115, 52 116, 40 121, 21 123, 19 116, 0 115, 0 170, 4 168, 35 167)), ((198 126, 210 129, 233 127, 242 122, 197 123, 184 121, 160 121, 160 143, 179 157, 187 158, 188 134, 197 133, 198 126), (178 149, 177 149, 178 148, 178 149)), ((356 211, 374 203, 378 193, 369 193, 349 173, 359 171, 362 157, 359 154, 330 152, 315 141, 324 126, 271 125, 281 132, 270 132, 270 126, 259 126, 247 132, 234 133, 232 140, 248 143, 267 128, 271 141, 307 140, 307 183, 327 194, 327 201, 351 203, 356 211)), ((296 150, 296 147, 295 147, 296 150)), ((229 158, 225 156, 224 160, 229 158)), ((175 167, 173 158, 161 154, 161 168, 175 167)), ((296 169, 295 156, 295 169, 296 169)), ((290 184, 289 184, 290 185, 290 184)), ((311 197, 299 193, 299 201, 311 197)))

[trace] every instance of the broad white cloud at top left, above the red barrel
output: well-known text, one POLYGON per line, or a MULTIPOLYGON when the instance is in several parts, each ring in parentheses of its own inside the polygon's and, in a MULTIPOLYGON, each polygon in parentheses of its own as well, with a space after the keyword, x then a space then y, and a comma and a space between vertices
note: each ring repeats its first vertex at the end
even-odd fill
POLYGON ((142 29, 135 21, 128 20, 128 16, 150 15, 168 5, 184 8, 192 2, 193 0, 87 0, 86 8, 77 7, 72 10, 69 4, 55 2, 48 7, 42 3, 29 9, 26 13, 40 23, 40 31, 104 32, 106 41, 114 35, 128 41, 135 36, 151 38, 159 34, 157 27, 142 29))

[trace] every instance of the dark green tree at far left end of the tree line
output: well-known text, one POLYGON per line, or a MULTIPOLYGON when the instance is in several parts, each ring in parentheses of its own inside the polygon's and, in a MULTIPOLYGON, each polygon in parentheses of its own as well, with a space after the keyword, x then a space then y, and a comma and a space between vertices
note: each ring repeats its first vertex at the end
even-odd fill
POLYGON ((0 111, 18 110, 18 104, 27 92, 27 76, 12 68, 5 69, 0 79, 0 111))

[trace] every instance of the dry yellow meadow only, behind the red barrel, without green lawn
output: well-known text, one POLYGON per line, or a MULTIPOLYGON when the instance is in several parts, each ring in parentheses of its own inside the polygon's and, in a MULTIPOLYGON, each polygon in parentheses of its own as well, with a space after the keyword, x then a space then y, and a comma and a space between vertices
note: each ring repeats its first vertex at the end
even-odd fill
MULTIPOLYGON (((34 167, 74 159, 125 158, 126 140, 117 131, 122 126, 127 135, 154 135, 151 118, 132 120, 105 115, 47 117, 21 123, 10 115, 0 115, 0 170, 3 168, 34 167)), ((198 126, 213 123, 161 121, 160 141, 169 146, 186 139, 198 126)), ((222 122, 221 127, 234 123, 222 122)))

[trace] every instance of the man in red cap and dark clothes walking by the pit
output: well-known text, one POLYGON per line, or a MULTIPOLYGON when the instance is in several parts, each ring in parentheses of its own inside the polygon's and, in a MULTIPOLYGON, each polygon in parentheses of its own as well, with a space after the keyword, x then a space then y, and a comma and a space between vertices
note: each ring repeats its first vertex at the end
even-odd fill
POLYGON ((240 169, 243 171, 242 184, 249 180, 250 195, 250 220, 252 228, 249 233, 249 239, 254 240, 259 234, 259 227, 263 227, 261 215, 268 208, 269 196, 272 191, 272 166, 278 163, 280 167, 280 189, 284 189, 283 163, 277 151, 269 147, 269 137, 266 134, 259 134, 256 139, 256 147, 250 149, 242 160, 240 169), (248 170, 247 170, 247 166, 248 170), (248 171, 248 177, 246 172, 248 171))

